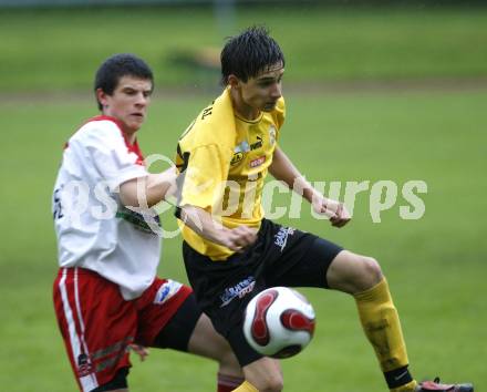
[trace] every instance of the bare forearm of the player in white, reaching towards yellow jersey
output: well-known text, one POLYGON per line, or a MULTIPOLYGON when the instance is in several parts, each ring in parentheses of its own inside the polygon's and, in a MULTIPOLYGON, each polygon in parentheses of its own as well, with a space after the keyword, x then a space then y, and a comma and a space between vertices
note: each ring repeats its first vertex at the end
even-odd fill
POLYGON ((120 197, 127 207, 149 208, 176 192, 175 168, 129 179, 120 186, 120 197))

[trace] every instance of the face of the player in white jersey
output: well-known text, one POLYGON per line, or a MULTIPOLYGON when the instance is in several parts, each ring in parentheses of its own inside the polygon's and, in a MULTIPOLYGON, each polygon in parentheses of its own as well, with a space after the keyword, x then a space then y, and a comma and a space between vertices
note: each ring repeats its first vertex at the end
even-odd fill
POLYGON ((145 121, 152 90, 153 85, 149 80, 122 76, 112 95, 99 90, 103 114, 121 121, 124 132, 132 135, 145 121))

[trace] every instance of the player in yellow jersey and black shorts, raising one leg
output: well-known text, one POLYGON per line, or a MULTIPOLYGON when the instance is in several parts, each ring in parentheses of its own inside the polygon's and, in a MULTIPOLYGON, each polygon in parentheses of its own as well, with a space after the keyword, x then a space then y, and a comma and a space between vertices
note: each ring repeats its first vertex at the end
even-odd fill
POLYGON ((262 186, 270 173, 332 226, 350 221, 346 208, 315 190, 278 145, 286 115, 278 43, 265 29, 244 31, 222 49, 221 73, 225 91, 178 143, 184 179, 177 216, 196 297, 244 368, 246 381, 235 391, 282 389, 278 361, 253 351, 241 328, 247 303, 271 286, 351 295, 391 391, 473 391, 470 384, 413 379, 397 311, 375 259, 263 217, 262 186))

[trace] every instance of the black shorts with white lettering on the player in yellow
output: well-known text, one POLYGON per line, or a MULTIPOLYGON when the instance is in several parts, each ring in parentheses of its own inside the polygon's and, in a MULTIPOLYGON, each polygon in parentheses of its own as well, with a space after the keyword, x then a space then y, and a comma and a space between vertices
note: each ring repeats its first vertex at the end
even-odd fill
POLYGON ((258 239, 242 254, 213 261, 183 243, 186 272, 198 303, 230 343, 240 365, 259 358, 242 332, 247 303, 268 287, 328 288, 327 270, 340 246, 263 219, 258 239))

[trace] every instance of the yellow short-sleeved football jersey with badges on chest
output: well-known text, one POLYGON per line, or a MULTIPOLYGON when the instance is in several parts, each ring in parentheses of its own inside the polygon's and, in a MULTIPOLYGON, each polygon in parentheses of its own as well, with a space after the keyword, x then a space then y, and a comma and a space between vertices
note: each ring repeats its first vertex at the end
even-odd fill
MULTIPOLYGON (((248 121, 236 115, 226 89, 179 138, 176 166, 184 173, 179 206, 200 207, 228 228, 259 228, 263 180, 283 122, 282 97, 272 112, 261 112, 258 118, 248 121)), ((198 252, 213 260, 225 260, 234 254, 183 221, 178 224, 183 238, 198 252)))

